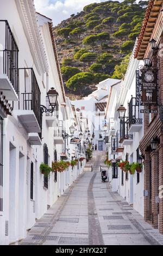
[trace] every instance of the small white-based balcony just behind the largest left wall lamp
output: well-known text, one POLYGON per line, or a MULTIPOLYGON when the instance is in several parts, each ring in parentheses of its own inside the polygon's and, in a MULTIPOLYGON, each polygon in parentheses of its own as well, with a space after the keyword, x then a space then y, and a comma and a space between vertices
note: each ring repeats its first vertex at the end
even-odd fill
MULTIPOLYGON (((46 108, 52 108, 52 106, 49 105, 48 97, 46 97, 46 108)), ((52 113, 46 112, 46 123, 48 127, 55 127, 58 125, 58 103, 54 107, 54 111, 52 113)))

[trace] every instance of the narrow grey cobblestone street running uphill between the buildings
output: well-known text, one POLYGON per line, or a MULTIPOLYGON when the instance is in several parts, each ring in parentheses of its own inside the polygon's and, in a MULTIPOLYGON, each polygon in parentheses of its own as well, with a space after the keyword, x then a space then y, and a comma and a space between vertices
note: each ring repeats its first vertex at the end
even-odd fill
POLYGON ((103 153, 48 209, 20 245, 163 245, 163 235, 143 220, 108 182, 101 182, 103 153))

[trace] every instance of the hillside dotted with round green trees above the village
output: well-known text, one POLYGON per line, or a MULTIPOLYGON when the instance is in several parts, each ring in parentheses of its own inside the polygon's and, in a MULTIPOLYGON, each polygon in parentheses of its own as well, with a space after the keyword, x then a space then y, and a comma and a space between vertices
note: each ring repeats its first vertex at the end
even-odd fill
POLYGON ((124 77, 147 4, 89 4, 54 28, 67 94, 86 96, 98 82, 124 77))

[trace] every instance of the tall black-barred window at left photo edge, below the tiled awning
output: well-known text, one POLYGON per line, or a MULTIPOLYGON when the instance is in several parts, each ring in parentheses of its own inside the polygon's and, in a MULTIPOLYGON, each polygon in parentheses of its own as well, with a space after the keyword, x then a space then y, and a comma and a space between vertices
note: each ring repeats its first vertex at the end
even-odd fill
POLYGON ((0 211, 3 211, 3 118, 0 117, 0 211))

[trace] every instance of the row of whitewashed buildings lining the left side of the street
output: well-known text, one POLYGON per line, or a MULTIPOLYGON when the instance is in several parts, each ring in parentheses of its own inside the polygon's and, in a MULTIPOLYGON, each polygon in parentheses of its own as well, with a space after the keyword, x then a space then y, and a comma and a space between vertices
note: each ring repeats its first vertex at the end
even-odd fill
POLYGON ((47 178, 40 164, 83 153, 69 147, 69 127, 78 136, 80 125, 65 96, 52 20, 35 13, 33 0, 1 2, 0 17, 0 245, 8 245, 26 237, 83 171, 78 164, 47 178), (51 88, 58 93, 53 113, 47 111, 51 88))

